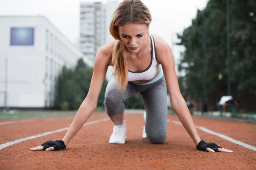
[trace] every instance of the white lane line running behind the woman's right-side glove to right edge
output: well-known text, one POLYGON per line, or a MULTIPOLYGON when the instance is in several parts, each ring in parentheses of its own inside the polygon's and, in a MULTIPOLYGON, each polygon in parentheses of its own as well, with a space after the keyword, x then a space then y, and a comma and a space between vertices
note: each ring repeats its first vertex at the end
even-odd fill
MULTIPOLYGON (((169 119, 168 119, 167 122, 173 122, 173 123, 175 123, 175 124, 182 125, 181 122, 177 122, 177 121, 175 121, 175 120, 169 120, 169 119)), ((236 139, 233 139, 233 138, 230 138, 229 136, 226 136, 226 135, 224 135, 224 134, 217 133, 217 132, 214 132, 214 131, 212 131, 212 130, 209 130, 209 129, 203 127, 203 126, 195 126, 195 127, 198 128, 198 129, 200 129, 200 130, 203 130, 203 131, 206 132, 206 133, 209 133, 209 134, 212 134, 212 135, 216 135, 216 136, 218 136, 218 137, 220 137, 220 138, 222 138, 222 139, 226 139, 227 141, 233 142, 233 143, 235 143, 235 144, 239 144, 239 145, 241 145, 241 146, 243 146, 243 147, 246 147, 247 149, 256 151, 256 147, 251 146, 250 144, 246 144, 246 143, 244 143, 244 142, 240 142, 240 141, 238 141, 238 140, 236 140, 236 139)))

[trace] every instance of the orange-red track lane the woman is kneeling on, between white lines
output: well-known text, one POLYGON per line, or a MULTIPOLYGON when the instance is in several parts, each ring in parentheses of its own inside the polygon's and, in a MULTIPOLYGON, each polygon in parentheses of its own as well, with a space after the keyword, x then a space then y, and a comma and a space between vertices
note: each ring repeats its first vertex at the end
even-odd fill
MULTIPOLYGON (((179 121, 175 115, 169 115, 168 118, 179 121)), ((107 121, 83 127, 68 144, 67 149, 58 152, 31 151, 29 148, 38 145, 38 141, 61 139, 66 132, 50 134, 4 148, 0 150, 0 164, 3 169, 26 169, 28 166, 32 169, 256 169, 255 151, 218 136, 198 130, 204 140, 223 145, 234 150, 233 153, 207 153, 196 150, 185 128, 172 122, 168 123, 168 135, 164 144, 150 144, 147 139, 142 139, 143 115, 125 115, 125 119, 126 144, 108 143, 113 123, 107 121)), ((214 125, 208 122, 208 119, 193 119, 195 125, 201 122, 214 125)), ((216 126, 212 127, 207 128, 216 131, 216 126)), ((249 131, 247 135, 253 134, 249 131)))

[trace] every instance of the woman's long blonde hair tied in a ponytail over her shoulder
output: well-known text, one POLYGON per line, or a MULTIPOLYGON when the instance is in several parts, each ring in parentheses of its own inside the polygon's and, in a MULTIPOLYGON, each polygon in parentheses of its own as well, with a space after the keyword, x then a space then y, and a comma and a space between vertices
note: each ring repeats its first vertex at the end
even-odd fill
POLYGON ((129 23, 149 26, 151 20, 149 9, 140 0, 123 0, 113 13, 109 31, 117 41, 113 48, 111 65, 114 68, 114 75, 121 92, 126 91, 126 86, 128 85, 128 68, 127 59, 124 57, 125 45, 119 36, 119 26, 129 23))

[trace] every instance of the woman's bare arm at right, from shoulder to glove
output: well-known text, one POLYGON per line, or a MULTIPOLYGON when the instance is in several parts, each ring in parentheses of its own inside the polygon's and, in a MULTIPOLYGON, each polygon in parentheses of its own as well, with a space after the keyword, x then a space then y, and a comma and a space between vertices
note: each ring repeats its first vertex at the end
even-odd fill
POLYGON ((177 113, 182 125, 193 139, 195 145, 201 141, 195 128, 192 116, 186 105, 183 96, 180 94, 180 88, 175 71, 175 62, 172 50, 169 45, 158 36, 156 37, 157 62, 163 67, 163 73, 166 78, 167 90, 169 92, 172 108, 177 113))

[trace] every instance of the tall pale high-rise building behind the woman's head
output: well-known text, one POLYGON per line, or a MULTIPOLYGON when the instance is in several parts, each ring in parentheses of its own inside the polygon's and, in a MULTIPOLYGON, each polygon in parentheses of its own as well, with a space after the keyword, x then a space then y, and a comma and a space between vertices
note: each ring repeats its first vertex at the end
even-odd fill
POLYGON ((109 24, 118 0, 80 3, 80 50, 94 60, 99 48, 113 40, 109 24))

